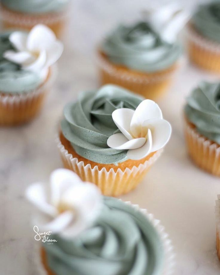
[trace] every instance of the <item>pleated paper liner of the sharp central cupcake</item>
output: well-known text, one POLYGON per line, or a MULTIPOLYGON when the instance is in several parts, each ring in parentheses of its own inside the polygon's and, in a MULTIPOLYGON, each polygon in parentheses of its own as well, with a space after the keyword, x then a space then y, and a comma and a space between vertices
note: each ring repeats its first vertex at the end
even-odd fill
POLYGON ((59 137, 56 138, 56 143, 65 168, 77 173, 83 181, 96 184, 103 195, 113 197, 126 194, 135 189, 163 151, 163 149, 158 150, 149 160, 143 164, 139 164, 138 167, 133 166, 132 169, 126 168, 124 171, 118 168, 117 171, 114 172, 113 168, 109 171, 107 171, 105 167, 99 170, 97 165, 91 168, 91 164, 85 165, 83 161, 79 162, 77 158, 69 154, 59 137))

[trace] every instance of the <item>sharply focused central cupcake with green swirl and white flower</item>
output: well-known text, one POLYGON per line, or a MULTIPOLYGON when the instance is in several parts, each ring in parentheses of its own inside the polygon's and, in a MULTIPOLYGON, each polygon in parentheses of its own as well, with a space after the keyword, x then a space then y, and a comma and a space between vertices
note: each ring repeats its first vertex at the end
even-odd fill
POLYGON ((57 141, 64 167, 109 196, 134 189, 171 134, 154 101, 115 85, 81 92, 63 115, 57 141))

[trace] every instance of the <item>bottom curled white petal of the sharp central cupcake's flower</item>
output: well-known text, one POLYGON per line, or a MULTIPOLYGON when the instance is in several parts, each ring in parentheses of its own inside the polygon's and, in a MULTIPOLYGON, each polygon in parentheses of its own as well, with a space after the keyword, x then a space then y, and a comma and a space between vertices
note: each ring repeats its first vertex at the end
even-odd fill
POLYGON ((138 149, 128 150, 127 157, 133 160, 142 159, 147 155, 149 155, 150 152, 152 152, 151 148, 152 148, 152 135, 151 135, 150 129, 148 129, 146 143, 138 149))

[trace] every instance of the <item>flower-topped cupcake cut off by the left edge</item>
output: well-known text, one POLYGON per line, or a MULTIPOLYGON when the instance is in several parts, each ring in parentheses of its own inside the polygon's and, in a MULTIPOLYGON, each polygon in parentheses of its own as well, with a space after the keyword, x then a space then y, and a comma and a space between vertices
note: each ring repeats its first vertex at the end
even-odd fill
POLYGON ((39 113, 54 78, 52 65, 62 51, 62 43, 44 25, 29 34, 0 34, 0 126, 25 123, 39 113))

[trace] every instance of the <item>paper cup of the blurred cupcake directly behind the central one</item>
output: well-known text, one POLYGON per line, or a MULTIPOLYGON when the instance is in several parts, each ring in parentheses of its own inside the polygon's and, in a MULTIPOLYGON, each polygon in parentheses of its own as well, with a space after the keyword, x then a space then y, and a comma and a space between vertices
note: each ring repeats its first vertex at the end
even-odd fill
POLYGON ((102 85, 109 83, 119 85, 145 98, 157 100, 169 88, 179 64, 176 63, 161 72, 142 73, 121 68, 99 53, 97 66, 102 85))

